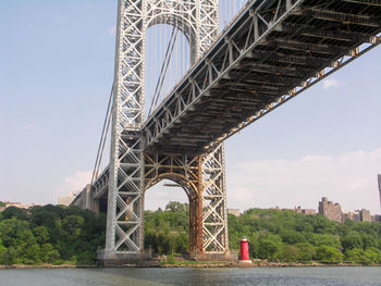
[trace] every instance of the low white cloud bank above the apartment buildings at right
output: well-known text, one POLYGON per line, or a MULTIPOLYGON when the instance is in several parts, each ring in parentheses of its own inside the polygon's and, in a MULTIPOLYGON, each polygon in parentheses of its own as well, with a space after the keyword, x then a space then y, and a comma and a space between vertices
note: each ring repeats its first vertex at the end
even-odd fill
POLYGON ((324 196, 346 211, 365 208, 380 213, 379 173, 381 148, 341 157, 243 162, 228 169, 228 206, 317 209, 324 196))

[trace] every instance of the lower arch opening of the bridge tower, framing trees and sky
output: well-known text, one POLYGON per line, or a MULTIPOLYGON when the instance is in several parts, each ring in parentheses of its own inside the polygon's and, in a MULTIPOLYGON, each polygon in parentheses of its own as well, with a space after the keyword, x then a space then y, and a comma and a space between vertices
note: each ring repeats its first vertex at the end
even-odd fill
POLYGON ((188 252, 189 197, 185 181, 171 175, 152 179, 145 188, 145 249, 153 256, 188 252))

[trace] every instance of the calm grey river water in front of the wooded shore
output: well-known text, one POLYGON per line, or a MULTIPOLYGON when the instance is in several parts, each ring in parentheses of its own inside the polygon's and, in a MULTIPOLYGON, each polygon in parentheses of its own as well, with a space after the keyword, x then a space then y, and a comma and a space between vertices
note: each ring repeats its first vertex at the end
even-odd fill
POLYGON ((380 286, 381 268, 11 269, 0 270, 0 285, 380 286))

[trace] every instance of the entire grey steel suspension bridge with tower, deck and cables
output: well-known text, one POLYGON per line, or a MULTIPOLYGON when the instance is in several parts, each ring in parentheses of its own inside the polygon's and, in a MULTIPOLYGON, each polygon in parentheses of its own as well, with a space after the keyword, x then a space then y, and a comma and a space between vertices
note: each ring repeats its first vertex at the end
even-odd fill
POLYGON ((189 199, 190 257, 229 259, 223 141, 381 42, 379 0, 241 2, 220 29, 233 10, 226 2, 221 10, 218 0, 119 0, 114 83, 95 171, 72 203, 107 211, 101 263, 146 258, 144 196, 162 179, 189 199), (173 28, 161 35, 168 48, 145 117, 147 30, 158 24, 173 28), (164 92, 179 32, 189 69, 164 92), (109 126, 110 163, 100 172, 109 126))

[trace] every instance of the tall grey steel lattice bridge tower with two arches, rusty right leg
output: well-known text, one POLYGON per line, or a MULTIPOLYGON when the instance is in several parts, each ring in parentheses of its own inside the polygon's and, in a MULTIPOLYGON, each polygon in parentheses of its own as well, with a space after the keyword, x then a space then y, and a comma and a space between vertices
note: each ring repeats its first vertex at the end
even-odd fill
POLYGON ((223 146, 211 153, 147 152, 142 132, 147 29, 155 24, 180 29, 189 42, 193 64, 218 36, 218 0, 119 0, 106 248, 98 253, 100 260, 145 257, 145 191, 161 179, 174 181, 188 196, 190 256, 229 256, 223 146))

